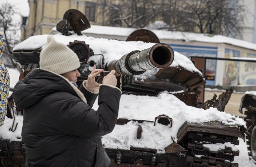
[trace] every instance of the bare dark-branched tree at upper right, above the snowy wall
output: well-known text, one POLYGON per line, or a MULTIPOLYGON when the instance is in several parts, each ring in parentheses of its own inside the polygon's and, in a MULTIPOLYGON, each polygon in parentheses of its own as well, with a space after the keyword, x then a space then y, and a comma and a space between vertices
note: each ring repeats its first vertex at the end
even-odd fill
POLYGON ((244 7, 238 0, 183 0, 183 3, 182 10, 189 13, 183 22, 193 23, 200 33, 240 34, 244 7))

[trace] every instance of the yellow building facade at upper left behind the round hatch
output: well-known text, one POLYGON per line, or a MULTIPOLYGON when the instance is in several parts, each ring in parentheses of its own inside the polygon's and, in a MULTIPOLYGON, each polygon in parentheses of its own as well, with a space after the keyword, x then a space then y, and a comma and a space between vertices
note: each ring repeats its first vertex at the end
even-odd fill
POLYGON ((100 23, 97 14, 97 0, 28 0, 29 17, 21 28, 21 41, 32 35, 48 34, 63 19, 68 9, 82 12, 91 24, 100 23))

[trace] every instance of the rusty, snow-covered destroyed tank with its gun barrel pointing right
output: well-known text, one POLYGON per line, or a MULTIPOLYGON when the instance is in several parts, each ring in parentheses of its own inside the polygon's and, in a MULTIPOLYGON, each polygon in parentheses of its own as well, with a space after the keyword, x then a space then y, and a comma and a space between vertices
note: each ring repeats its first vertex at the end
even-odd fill
MULTIPOLYGON (((59 29, 68 30, 70 24, 65 26, 59 29)), ((210 115, 219 112, 217 109, 196 108, 205 79, 191 60, 173 52, 169 45, 158 43, 155 36, 147 36, 150 33, 145 29, 141 35, 131 34, 127 41, 66 36, 70 33, 64 30, 55 39, 78 55, 78 85, 87 79, 94 65, 105 71, 116 70, 117 87, 123 94, 118 120, 113 132, 102 136, 110 167, 238 166, 232 163, 239 155, 235 145, 239 144, 238 138, 245 140, 246 126, 236 117, 213 119, 210 115), (212 144, 223 147, 213 150, 209 147, 212 144)), ((13 49, 12 59, 24 71, 20 79, 39 67, 46 39, 47 35, 31 36, 13 49)), ((99 83, 102 77, 98 77, 99 83)), ((93 108, 97 110, 96 103, 93 108)), ((5 124, 0 127, 8 132, 2 135, 0 131, 3 167, 25 166, 21 127, 22 111, 15 108, 11 96, 5 124)))

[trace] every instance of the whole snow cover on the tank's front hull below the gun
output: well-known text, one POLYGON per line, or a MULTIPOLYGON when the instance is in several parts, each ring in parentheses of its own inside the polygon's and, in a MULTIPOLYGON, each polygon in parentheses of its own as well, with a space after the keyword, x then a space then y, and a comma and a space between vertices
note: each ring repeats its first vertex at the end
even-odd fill
MULTIPOLYGON (((93 109, 97 110, 98 103, 94 103, 93 109)), ((177 142, 177 132, 183 123, 204 123, 209 121, 220 121, 225 125, 241 125, 246 127, 246 123, 239 117, 220 112, 217 108, 207 110, 187 106, 176 96, 162 93, 157 97, 122 95, 119 105, 118 118, 128 120, 148 120, 160 114, 168 115, 173 119, 173 126, 150 122, 130 121, 125 125, 116 125, 114 130, 102 138, 102 143, 106 148, 130 149, 130 147, 157 148, 158 152, 177 142), (142 138, 137 139, 137 128, 142 127, 142 138)))

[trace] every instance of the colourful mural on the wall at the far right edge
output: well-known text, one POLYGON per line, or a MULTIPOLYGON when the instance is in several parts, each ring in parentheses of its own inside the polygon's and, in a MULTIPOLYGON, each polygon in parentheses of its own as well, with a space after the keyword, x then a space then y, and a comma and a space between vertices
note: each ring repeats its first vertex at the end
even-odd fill
MULTIPOLYGON (((225 58, 255 57, 256 54, 225 48, 225 58)), ((223 85, 256 84, 256 63, 246 61, 225 61, 223 85)))

